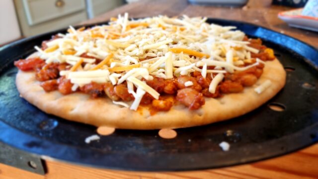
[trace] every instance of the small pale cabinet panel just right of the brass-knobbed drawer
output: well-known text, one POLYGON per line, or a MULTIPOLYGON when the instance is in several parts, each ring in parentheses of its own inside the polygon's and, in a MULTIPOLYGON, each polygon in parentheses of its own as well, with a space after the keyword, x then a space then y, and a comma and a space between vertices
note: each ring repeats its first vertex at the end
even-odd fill
POLYGON ((86 0, 87 16, 93 18, 124 4, 124 0, 86 0))

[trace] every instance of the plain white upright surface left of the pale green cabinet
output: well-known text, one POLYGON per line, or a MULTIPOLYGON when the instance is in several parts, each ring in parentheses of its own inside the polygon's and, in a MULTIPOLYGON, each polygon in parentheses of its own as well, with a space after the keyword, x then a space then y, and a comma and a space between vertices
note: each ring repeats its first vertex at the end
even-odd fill
POLYGON ((15 40, 20 36, 13 0, 0 0, 0 44, 15 40))

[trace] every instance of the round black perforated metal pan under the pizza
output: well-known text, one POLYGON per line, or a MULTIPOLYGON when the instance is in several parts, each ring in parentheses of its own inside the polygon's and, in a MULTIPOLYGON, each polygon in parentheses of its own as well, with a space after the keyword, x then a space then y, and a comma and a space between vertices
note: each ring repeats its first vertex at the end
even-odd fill
MULTIPOLYGON (((35 45, 58 30, 0 48, 0 141, 15 148, 86 166, 184 171, 238 165, 284 155, 318 141, 318 50, 270 29, 231 20, 209 23, 237 26, 273 48, 287 71, 286 86, 259 108, 210 125, 176 129, 163 139, 158 130, 119 130, 87 144, 96 127, 48 115, 19 97, 13 61, 33 53, 35 45), (279 106, 283 111, 272 110, 279 106), (229 151, 219 144, 228 142, 229 151)), ((106 22, 105 22, 106 23, 106 22)), ((102 106, 100 106, 102 107, 102 106)), ((213 106, 211 106, 213 107, 213 106)))

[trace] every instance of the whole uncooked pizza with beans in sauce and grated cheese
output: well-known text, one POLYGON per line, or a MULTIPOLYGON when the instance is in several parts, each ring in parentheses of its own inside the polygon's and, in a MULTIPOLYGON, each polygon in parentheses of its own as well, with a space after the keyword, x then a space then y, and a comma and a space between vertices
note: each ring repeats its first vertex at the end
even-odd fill
POLYGON ((70 26, 14 62, 20 96, 64 119, 182 128, 243 115, 285 85, 272 49, 207 18, 156 16, 70 26))

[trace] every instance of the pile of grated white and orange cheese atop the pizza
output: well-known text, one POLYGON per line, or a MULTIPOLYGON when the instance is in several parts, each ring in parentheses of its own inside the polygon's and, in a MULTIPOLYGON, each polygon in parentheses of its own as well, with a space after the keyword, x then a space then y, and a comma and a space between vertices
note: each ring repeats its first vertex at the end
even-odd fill
MULTIPOLYGON (((74 29, 47 43, 48 48, 39 52, 46 63, 68 63, 69 71, 61 71, 77 90, 91 82, 111 82, 118 85, 127 82, 129 93, 135 100, 131 103, 116 102, 136 110, 141 98, 148 92, 154 98, 159 93, 141 81, 152 80, 153 76, 172 79, 191 72, 201 72, 206 78, 212 73, 209 91, 214 93, 223 80, 224 73, 243 71, 259 63, 240 67, 251 62, 251 52, 257 49, 242 41, 244 33, 233 26, 219 26, 206 23, 207 18, 169 18, 166 16, 130 20, 128 14, 112 18, 108 25, 74 29), (80 57, 86 53, 91 58, 80 57), (96 59, 103 59, 96 64, 96 59), (82 67, 82 63, 85 65, 82 67), (214 70, 208 70, 215 66, 214 70), (202 68, 200 68, 202 67, 202 68), (137 90, 134 90, 134 86, 137 90)), ((186 86, 191 86, 191 82, 186 86)))

